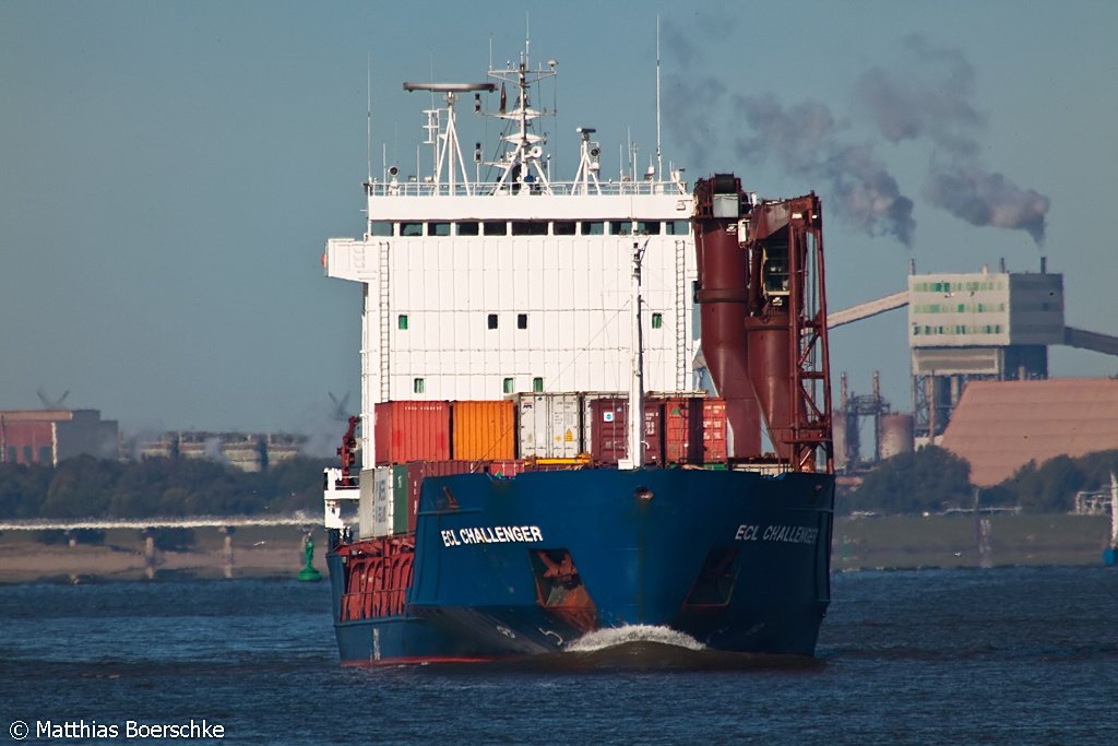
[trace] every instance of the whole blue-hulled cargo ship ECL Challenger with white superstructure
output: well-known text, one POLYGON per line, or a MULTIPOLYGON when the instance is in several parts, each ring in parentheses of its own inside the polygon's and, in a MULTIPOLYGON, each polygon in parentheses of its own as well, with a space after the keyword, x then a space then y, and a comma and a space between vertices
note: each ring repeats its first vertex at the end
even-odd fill
POLYGON ((405 83, 439 104, 432 171, 370 174, 364 234, 326 242, 325 275, 363 290, 361 412, 324 474, 341 662, 650 626, 813 655, 834 506, 819 200, 691 187, 659 142, 607 178, 589 126, 552 178, 532 100, 555 74, 525 50, 484 83, 405 83), (461 147, 461 100, 500 125, 490 159, 461 147))

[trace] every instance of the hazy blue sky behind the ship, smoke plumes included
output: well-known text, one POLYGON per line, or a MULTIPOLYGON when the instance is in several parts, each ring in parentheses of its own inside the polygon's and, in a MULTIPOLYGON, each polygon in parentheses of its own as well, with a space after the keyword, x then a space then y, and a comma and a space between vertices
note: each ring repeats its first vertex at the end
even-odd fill
MULTIPOLYGON (((903 289, 910 259, 1045 255, 1068 323, 1118 333, 1118 3, 8 0, 0 408, 68 389, 132 432, 333 437, 328 391, 358 397, 360 292, 319 257, 363 225, 367 63, 373 170, 387 151, 410 173, 429 102, 400 84, 484 79, 491 45, 515 59, 527 25, 533 57, 559 63, 540 94, 558 176, 577 125, 597 128, 608 176, 629 139, 655 150, 657 13, 665 162, 819 192, 832 309, 903 289)), ((467 110, 466 143, 484 134, 467 110)), ((836 374, 869 393, 880 370, 899 410, 904 322, 832 336, 836 374)), ((1118 371, 1068 348, 1050 365, 1118 371)))

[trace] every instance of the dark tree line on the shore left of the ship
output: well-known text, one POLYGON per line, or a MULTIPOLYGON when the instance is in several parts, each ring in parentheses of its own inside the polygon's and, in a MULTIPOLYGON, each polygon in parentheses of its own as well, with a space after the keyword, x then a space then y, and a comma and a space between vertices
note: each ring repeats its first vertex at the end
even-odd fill
POLYGON ((0 518, 253 516, 322 510, 322 470, 296 456, 262 472, 205 459, 120 462, 76 456, 57 466, 0 464, 0 518))

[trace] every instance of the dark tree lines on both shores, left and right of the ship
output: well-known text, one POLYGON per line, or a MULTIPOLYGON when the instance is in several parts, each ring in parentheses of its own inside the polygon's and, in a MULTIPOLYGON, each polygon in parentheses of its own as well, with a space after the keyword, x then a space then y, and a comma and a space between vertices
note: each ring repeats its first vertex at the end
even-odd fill
MULTIPOLYGON (((245 472, 203 459, 145 457, 120 462, 77 456, 58 464, 0 464, 0 518, 152 518, 253 516, 322 509, 322 470, 332 459, 294 459, 245 472)), ((976 489, 970 466, 939 446, 880 462, 853 489, 840 489, 841 513, 941 512, 1020 507, 1068 512, 1076 493, 1110 483, 1118 451, 1029 463, 1006 481, 976 489)))

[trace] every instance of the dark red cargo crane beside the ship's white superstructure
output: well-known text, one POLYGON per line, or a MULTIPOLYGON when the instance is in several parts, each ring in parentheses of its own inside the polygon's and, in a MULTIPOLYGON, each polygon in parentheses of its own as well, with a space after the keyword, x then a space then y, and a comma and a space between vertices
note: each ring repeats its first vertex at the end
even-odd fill
POLYGON ((695 185, 694 226, 702 352, 730 461, 833 472, 818 197, 758 202, 719 173, 695 185))

